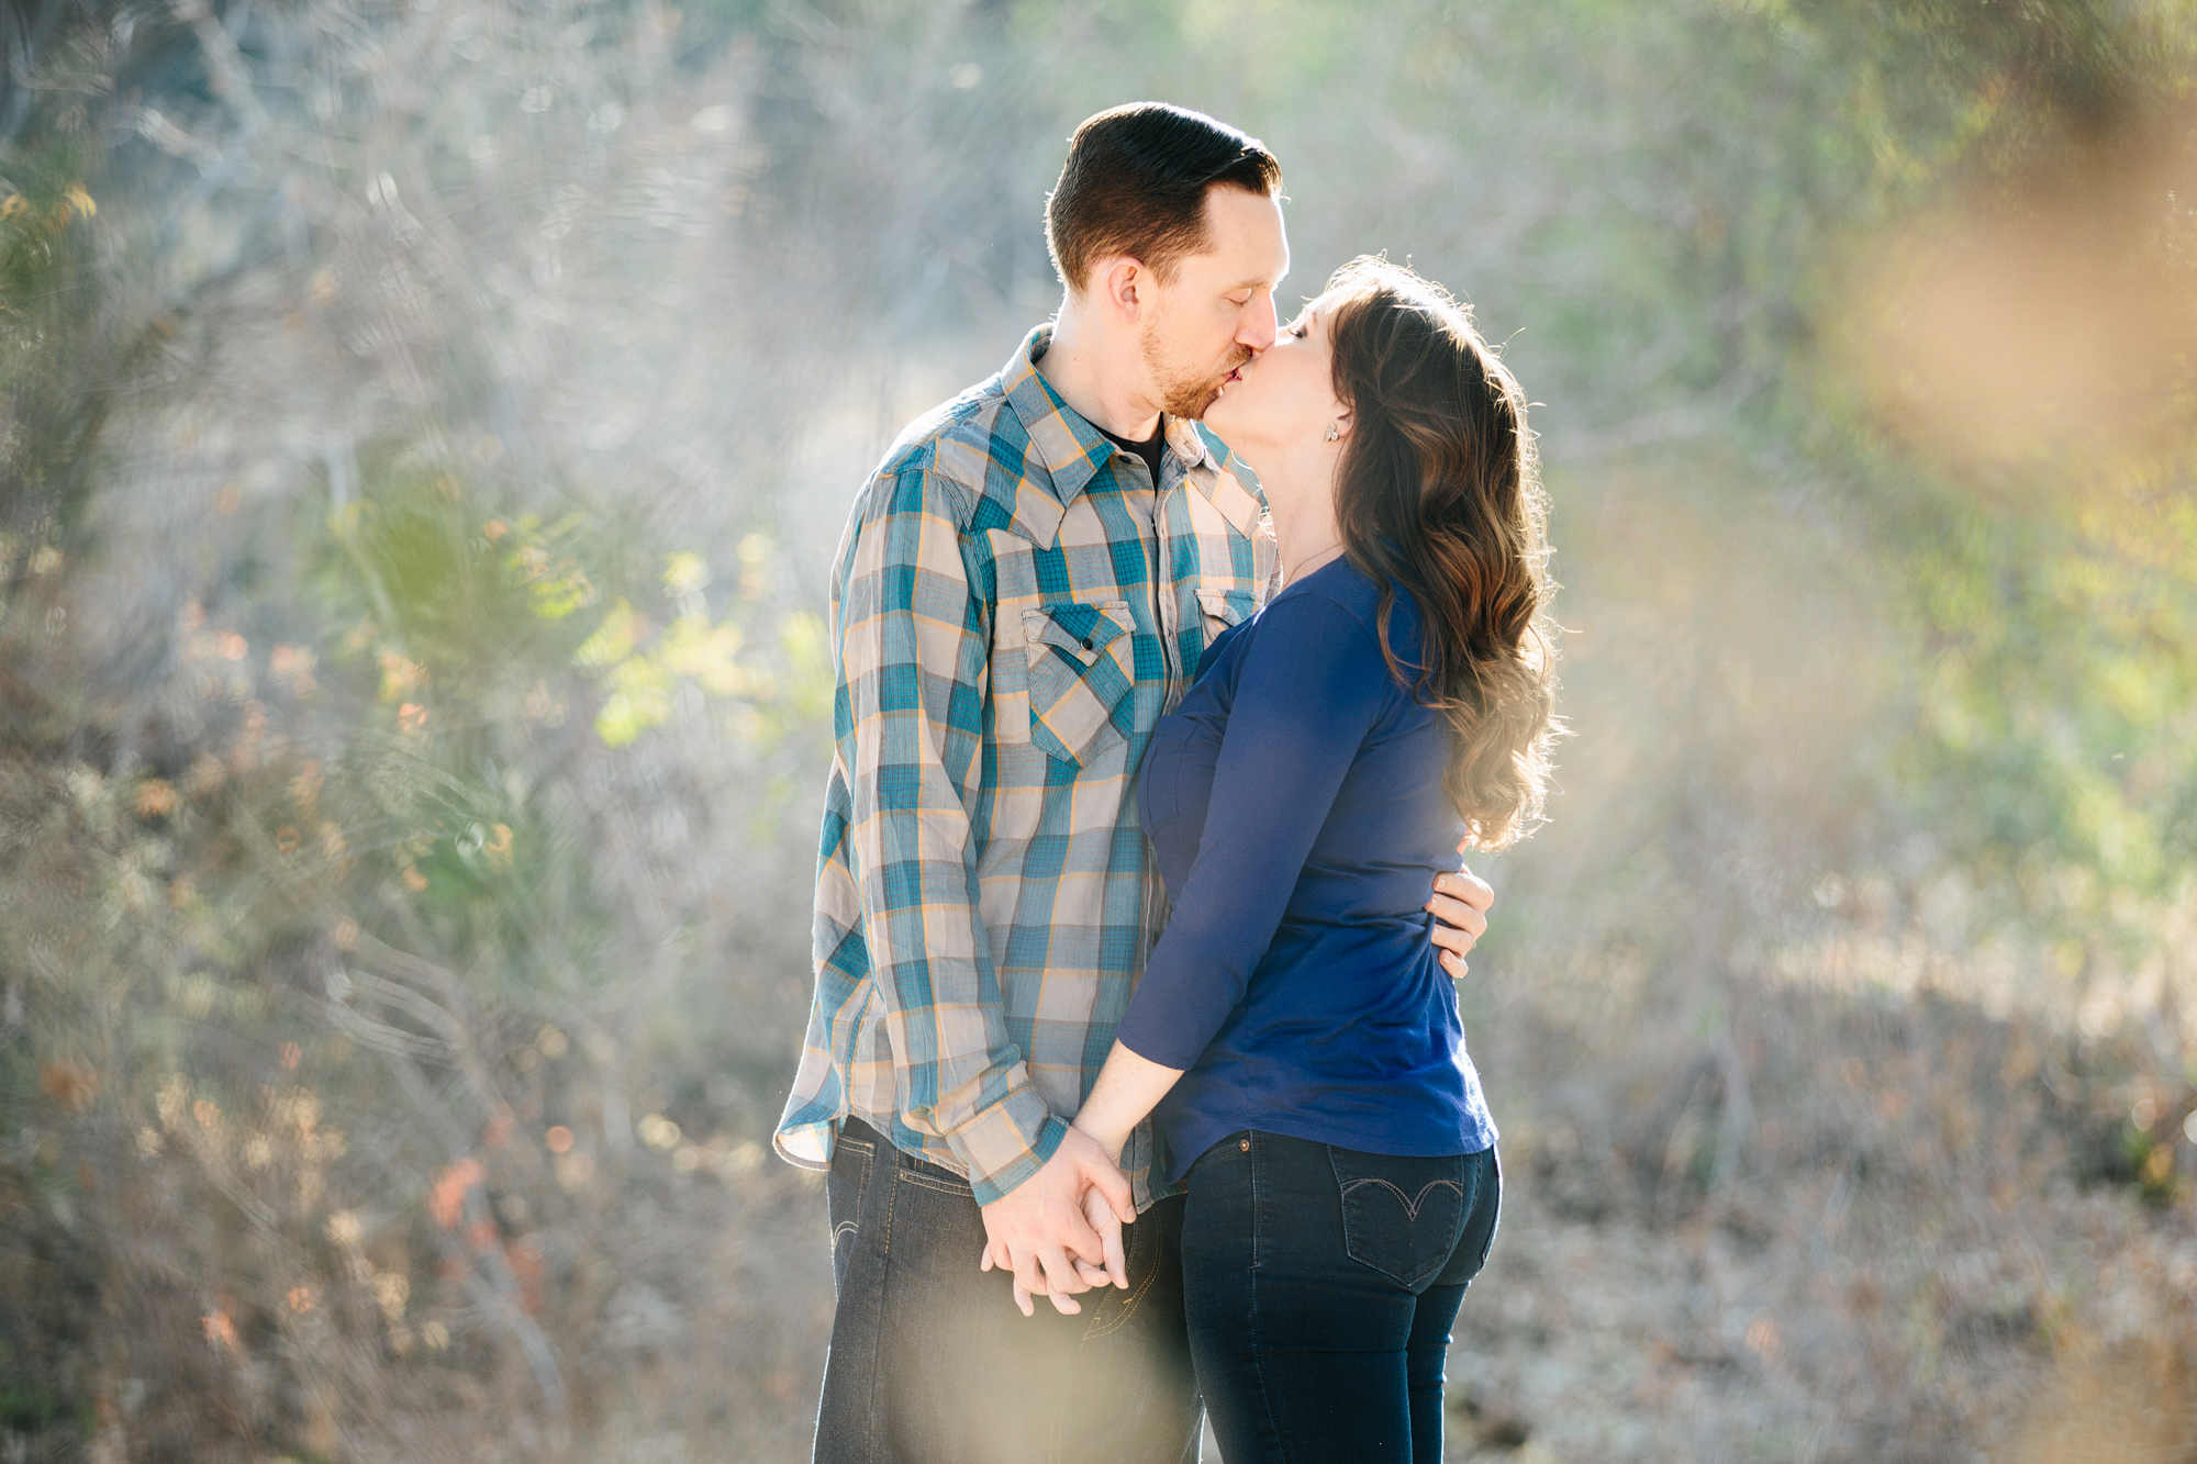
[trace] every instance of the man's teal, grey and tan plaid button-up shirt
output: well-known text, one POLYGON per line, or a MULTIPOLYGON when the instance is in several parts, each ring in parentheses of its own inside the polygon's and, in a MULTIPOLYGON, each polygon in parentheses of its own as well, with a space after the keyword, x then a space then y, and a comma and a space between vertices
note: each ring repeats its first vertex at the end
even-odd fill
MULTIPOLYGON (((1153 486, 1037 371, 1048 343, 918 418, 855 499, 815 1005, 776 1134, 822 1169, 859 1114, 980 1205, 1052 1156, 1098 1079, 1167 917, 1145 741, 1276 569, 1219 440, 1169 422, 1153 486)), ((1138 1209, 1158 1198, 1149 1128, 1123 1167, 1138 1209)))

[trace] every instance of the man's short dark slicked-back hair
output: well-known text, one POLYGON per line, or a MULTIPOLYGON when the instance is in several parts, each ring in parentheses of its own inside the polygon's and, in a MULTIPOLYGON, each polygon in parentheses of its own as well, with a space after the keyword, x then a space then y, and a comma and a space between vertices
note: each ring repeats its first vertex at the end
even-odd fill
POLYGON ((1206 189, 1281 191, 1281 163, 1254 136, 1204 112, 1131 101, 1088 119, 1046 198, 1046 248, 1081 292, 1090 268, 1131 255, 1171 284, 1175 262, 1206 246, 1206 189))

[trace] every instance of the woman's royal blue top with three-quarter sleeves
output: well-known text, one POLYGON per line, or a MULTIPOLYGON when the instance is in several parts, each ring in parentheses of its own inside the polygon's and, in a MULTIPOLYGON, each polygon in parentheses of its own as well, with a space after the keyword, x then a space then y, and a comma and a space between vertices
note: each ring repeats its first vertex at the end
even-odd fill
MULTIPOLYGON (((1347 558, 1222 633, 1151 732, 1138 813, 1173 914, 1118 1038, 1186 1068, 1153 1110, 1169 1183, 1239 1130, 1369 1154, 1496 1141, 1428 939, 1463 827, 1441 719, 1389 670, 1347 558)), ((1389 644, 1419 657, 1402 587, 1389 644)))

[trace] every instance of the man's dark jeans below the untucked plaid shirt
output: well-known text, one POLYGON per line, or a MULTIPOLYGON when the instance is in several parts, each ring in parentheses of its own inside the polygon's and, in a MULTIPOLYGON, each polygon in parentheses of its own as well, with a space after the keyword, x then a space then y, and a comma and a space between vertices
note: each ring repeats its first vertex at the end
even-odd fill
POLYGON ((1015 1310, 978 1271, 969 1183, 848 1119, 833 1150, 833 1317, 815 1464, 1195 1464, 1182 1198, 1123 1231, 1129 1288, 1015 1310))

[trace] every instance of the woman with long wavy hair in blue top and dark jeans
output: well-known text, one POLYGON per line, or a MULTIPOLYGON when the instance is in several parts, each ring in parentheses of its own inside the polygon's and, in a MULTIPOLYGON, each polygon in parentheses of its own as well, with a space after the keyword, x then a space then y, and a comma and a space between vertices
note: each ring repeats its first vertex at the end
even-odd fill
POLYGON ((1555 734, 1525 396, 1437 286, 1358 259, 1206 422, 1259 468, 1285 587, 1151 736, 1173 917, 1077 1125, 1118 1158, 1151 1112, 1189 1176, 1228 1464, 1435 1462, 1501 1172, 1424 903, 1461 833, 1540 813, 1555 734))

